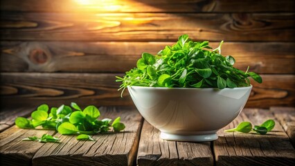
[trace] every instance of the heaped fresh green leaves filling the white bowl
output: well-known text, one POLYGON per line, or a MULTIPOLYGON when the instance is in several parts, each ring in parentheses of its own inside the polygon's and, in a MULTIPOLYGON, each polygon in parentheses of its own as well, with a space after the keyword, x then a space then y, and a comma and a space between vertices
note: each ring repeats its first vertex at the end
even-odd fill
MULTIPOLYGON (((124 77, 120 89, 127 86, 183 87, 183 88, 235 88, 249 86, 248 77, 262 83, 260 75, 240 71, 233 67, 235 59, 221 55, 220 43, 212 50, 209 42, 193 42, 188 35, 181 35, 176 44, 166 46, 157 55, 143 53, 136 66, 124 77)), ((120 90, 119 89, 119 90, 120 90)))

